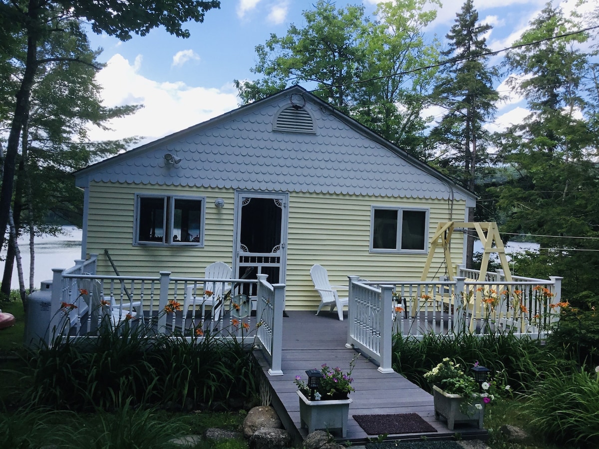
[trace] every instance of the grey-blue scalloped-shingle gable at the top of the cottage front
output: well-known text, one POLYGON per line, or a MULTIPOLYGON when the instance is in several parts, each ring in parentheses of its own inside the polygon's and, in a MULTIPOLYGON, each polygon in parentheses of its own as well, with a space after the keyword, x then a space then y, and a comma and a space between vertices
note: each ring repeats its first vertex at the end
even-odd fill
POLYGON ((80 187, 104 181, 474 202, 472 193, 297 86, 75 177, 80 187), (273 131, 273 119, 292 93, 305 96, 315 134, 273 131), (165 163, 165 153, 180 157, 179 165, 165 163))

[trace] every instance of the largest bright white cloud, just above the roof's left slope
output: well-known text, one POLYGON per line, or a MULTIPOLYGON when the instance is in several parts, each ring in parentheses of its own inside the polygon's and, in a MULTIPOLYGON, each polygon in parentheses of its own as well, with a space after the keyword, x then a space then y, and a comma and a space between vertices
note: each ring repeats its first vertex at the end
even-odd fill
POLYGON ((140 75, 140 67, 140 56, 131 65, 115 54, 98 72, 105 106, 143 104, 144 108, 132 116, 112 120, 108 126, 113 131, 91 129, 90 138, 122 139, 138 135, 145 136, 141 143, 147 143, 237 108, 238 98, 230 84, 206 89, 180 81, 158 83, 140 75))

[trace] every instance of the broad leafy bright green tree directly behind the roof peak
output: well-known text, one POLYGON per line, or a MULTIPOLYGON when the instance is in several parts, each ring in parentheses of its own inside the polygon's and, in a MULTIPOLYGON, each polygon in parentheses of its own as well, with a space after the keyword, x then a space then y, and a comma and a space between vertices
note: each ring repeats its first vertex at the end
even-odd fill
POLYGON ((287 34, 271 34, 256 47, 252 72, 262 78, 235 81, 244 103, 255 101, 291 83, 316 83, 315 95, 335 105, 412 154, 422 153, 438 44, 428 44, 423 28, 435 19, 438 5, 423 0, 382 2, 375 15, 364 6, 338 8, 319 0, 305 10, 305 26, 290 25, 287 34), (425 7, 426 5, 426 7, 425 7))

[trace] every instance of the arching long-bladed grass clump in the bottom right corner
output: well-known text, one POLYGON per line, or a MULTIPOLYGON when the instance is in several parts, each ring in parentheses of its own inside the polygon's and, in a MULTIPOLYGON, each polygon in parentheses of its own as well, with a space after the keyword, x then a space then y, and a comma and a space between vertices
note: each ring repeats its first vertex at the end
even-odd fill
MULTIPOLYGON (((599 366, 597 367, 599 368, 599 366)), ((529 425, 562 447, 599 447, 599 372, 552 370, 529 395, 529 425)))

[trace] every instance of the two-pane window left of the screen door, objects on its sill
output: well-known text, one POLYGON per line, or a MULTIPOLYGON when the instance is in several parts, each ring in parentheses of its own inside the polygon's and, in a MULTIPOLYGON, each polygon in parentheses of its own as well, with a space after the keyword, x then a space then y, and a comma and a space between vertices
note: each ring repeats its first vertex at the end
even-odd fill
POLYGON ((204 196, 135 194, 136 245, 204 246, 204 196))

